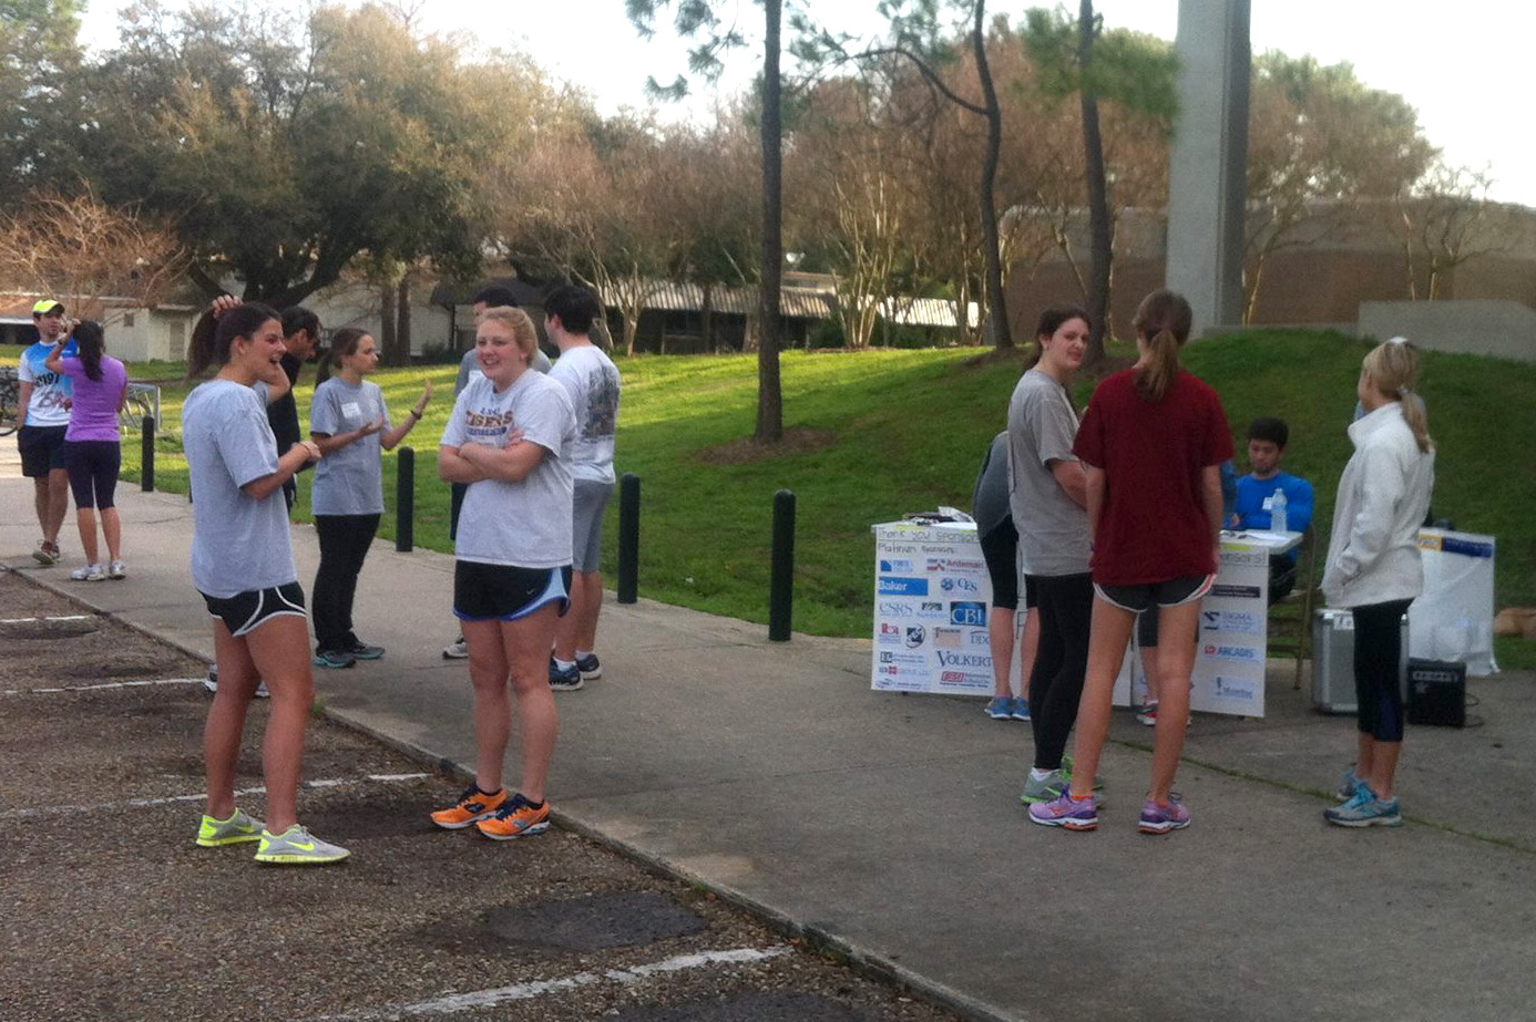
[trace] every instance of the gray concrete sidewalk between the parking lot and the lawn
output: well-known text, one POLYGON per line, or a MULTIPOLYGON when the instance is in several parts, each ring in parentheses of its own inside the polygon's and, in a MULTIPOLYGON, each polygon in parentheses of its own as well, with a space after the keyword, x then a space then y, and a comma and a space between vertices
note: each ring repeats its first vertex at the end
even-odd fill
MULTIPOLYGON (((0 479, 0 562, 210 655, 186 497, 124 486, 120 506, 129 579, 72 583, 72 520, 65 563, 38 569, 31 483, 0 479)), ((295 549, 307 591, 312 529, 295 549)), ((389 655, 316 671, 316 687, 332 717, 468 764, 465 666, 439 654, 450 589, 449 557, 375 545, 356 620, 389 655)), ((1100 830, 1064 833, 1017 803, 1028 726, 978 700, 871 692, 868 641, 770 645, 765 628, 642 600, 607 605, 599 652, 604 678, 561 695, 564 823, 975 1017, 1536 1017, 1530 675, 1473 683, 1484 727, 1412 732, 1410 826, 1350 832, 1321 810, 1353 724, 1310 712, 1275 664, 1266 720, 1197 717, 1180 775, 1195 824, 1146 838, 1150 732, 1129 714, 1100 830)))

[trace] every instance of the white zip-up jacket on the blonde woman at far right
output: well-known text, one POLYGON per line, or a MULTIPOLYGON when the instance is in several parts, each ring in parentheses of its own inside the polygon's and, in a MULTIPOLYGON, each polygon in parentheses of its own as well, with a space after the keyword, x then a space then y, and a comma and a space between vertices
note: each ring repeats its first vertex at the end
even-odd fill
POLYGON ((1322 595, 1329 606, 1412 600, 1424 591, 1419 526, 1435 488, 1435 451, 1421 451, 1396 401, 1352 424, 1339 477, 1322 595))

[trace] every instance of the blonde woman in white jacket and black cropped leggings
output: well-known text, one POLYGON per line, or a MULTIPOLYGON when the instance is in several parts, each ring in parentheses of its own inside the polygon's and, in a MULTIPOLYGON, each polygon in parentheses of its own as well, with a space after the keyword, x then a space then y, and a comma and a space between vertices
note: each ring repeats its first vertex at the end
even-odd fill
POLYGON ((1418 531, 1435 485, 1435 445, 1413 393, 1418 374, 1418 351, 1401 338, 1366 356, 1356 388, 1366 416, 1349 428, 1355 454, 1333 508, 1322 594, 1353 611, 1359 703, 1359 755, 1344 775, 1344 803, 1324 812, 1341 827, 1402 826, 1393 790, 1402 752, 1401 620, 1424 591, 1418 531))

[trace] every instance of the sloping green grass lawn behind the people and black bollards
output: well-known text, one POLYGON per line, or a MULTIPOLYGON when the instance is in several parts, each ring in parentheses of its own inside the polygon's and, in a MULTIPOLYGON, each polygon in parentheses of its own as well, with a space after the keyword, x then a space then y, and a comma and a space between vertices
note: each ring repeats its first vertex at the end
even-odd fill
MULTIPOLYGON (((1339 335, 1309 331, 1249 331, 1186 350, 1189 368, 1221 393, 1240 451, 1250 419, 1289 420, 1287 466, 1316 485, 1324 532, 1350 453, 1344 428, 1366 350, 1339 335)), ((796 629, 868 634, 869 526, 940 503, 969 508, 982 454, 1003 428, 1021 364, 1021 356, 977 359, 974 348, 785 353, 785 427, 796 442, 763 456, 740 443, 756 414, 754 356, 619 359, 625 387, 617 470, 642 477, 642 595, 766 621, 773 494, 790 488, 799 497, 796 629)), ((172 364, 132 367, 134 379, 178 374, 172 364)), ((416 543, 442 551, 450 549, 449 497, 432 451, 452 407, 453 374, 455 367, 441 365, 373 377, 396 417, 424 379, 438 390, 407 443, 421 453, 416 543)), ((312 381, 306 373, 298 388, 304 410, 312 381)), ((1536 420, 1518 411, 1536 407, 1536 373, 1516 362, 1430 351, 1421 390, 1438 445, 1435 514, 1461 529, 1498 536, 1498 605, 1536 605, 1536 420)), ((186 488, 184 393, 175 384, 163 391, 161 490, 186 488)), ((1091 384, 1083 384, 1080 402, 1089 393, 1091 384)), ((124 442, 124 474, 134 479, 135 439, 124 442)), ((387 454, 384 465, 386 503, 393 508, 395 456, 387 454)), ((309 477, 301 479, 298 517, 309 514, 309 477)), ((616 563, 616 511, 614 502, 605 531, 608 572, 616 563)), ((386 514, 381 532, 393 537, 393 526, 386 514)), ((1501 663, 1536 664, 1536 655, 1525 652, 1530 646, 1536 643, 1501 645, 1501 663)))

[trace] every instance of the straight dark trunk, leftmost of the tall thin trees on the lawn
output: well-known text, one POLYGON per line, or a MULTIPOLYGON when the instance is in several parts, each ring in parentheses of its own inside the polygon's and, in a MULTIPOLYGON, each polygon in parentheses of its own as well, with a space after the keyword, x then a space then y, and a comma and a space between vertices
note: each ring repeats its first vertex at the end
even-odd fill
POLYGON ((757 431, 759 443, 783 439, 783 390, 779 381, 779 345, 783 324, 779 318, 783 275, 783 127, 780 124, 782 84, 779 81, 780 17, 783 0, 763 0, 763 249, 762 287, 757 308, 757 431))

